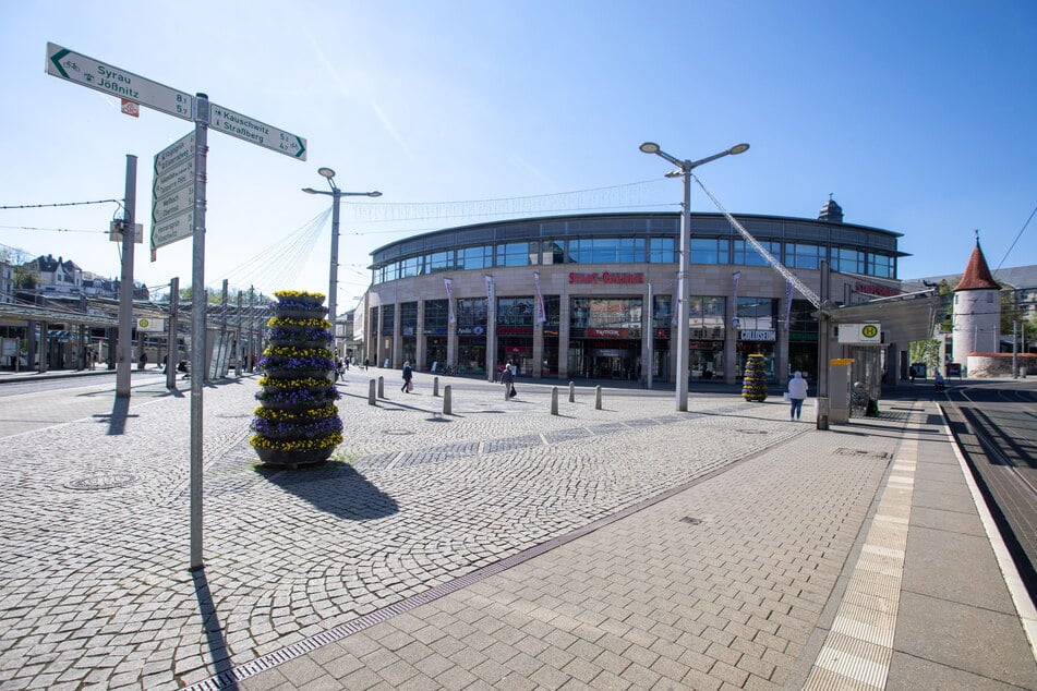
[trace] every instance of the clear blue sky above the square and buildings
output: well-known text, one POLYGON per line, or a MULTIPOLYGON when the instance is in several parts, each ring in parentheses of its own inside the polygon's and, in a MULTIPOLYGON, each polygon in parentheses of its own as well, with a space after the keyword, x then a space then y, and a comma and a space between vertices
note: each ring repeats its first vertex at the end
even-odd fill
MULTIPOLYGON (((815 218, 831 193, 904 234, 902 278, 960 271, 977 228, 997 267, 1037 206, 1030 0, 3 2, 0 206, 122 197, 133 154, 146 221, 153 157, 193 125, 45 74, 48 41, 306 138, 299 161, 209 134, 210 287, 325 292, 330 199, 300 189, 327 166, 382 191, 343 204, 340 310, 370 252, 415 232, 677 210, 644 141, 689 159, 748 142, 697 171, 727 209, 815 218)), ((692 209, 716 210, 697 187, 692 209)), ((0 244, 118 277, 117 215, 0 210, 0 244)), ((1035 226, 1004 266, 1037 264, 1035 226)), ((191 250, 140 251, 135 277, 189 286, 191 250)))

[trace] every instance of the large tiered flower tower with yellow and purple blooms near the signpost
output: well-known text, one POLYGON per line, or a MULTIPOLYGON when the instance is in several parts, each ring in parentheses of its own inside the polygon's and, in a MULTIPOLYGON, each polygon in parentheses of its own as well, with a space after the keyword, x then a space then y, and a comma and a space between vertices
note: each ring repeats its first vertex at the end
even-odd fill
POLYGON ((251 444, 268 465, 321 463, 342 443, 331 323, 321 293, 281 290, 274 295, 268 344, 256 363, 263 377, 251 444))

